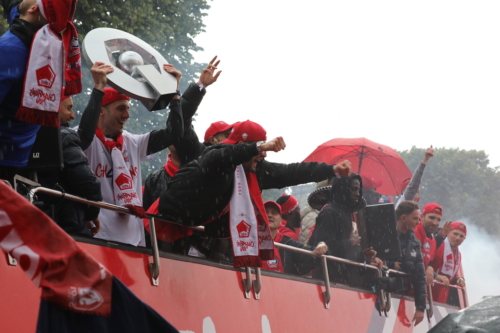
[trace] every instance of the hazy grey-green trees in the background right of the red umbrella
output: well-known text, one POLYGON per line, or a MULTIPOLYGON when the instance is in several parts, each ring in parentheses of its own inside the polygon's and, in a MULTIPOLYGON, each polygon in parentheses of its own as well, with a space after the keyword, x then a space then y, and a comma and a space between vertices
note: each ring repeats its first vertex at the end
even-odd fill
MULTIPOLYGON (((411 170, 424 157, 424 149, 399 152, 411 170)), ((456 148, 435 149, 420 187, 423 207, 436 202, 443 207, 445 221, 468 219, 488 233, 500 235, 500 172, 489 165, 484 151, 456 148)))

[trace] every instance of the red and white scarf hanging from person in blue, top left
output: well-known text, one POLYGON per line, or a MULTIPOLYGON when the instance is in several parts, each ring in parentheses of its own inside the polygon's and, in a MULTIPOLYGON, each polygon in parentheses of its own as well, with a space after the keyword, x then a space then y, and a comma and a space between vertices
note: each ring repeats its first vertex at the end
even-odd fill
POLYGON ((33 38, 16 118, 59 127, 62 88, 66 88, 68 96, 82 91, 78 33, 71 23, 76 0, 37 0, 37 3, 49 23, 33 38))

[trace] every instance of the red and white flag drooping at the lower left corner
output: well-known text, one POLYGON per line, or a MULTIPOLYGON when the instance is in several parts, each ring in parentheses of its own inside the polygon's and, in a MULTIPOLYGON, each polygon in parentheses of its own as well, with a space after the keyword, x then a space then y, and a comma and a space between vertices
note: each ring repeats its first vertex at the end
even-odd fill
POLYGON ((111 313, 111 273, 3 182, 0 248, 16 258, 26 275, 42 288, 44 300, 83 313, 111 313))

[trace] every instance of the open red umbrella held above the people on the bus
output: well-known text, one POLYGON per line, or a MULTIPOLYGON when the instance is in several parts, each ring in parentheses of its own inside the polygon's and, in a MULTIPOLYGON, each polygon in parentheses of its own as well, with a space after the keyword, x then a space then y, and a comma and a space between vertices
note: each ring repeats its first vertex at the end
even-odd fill
POLYGON ((402 182, 412 173, 405 161, 391 147, 366 138, 338 138, 318 146, 304 161, 336 164, 344 160, 352 163, 352 172, 370 174, 384 183, 377 192, 385 195, 399 195, 402 182))

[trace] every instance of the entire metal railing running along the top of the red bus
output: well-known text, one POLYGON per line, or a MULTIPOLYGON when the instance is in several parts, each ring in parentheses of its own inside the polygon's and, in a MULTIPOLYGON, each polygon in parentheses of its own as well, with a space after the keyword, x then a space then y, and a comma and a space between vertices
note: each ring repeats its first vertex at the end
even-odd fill
MULTIPOLYGON (((33 188, 31 188, 29 190, 29 194, 28 194, 30 202, 33 202, 35 200, 35 196, 36 196, 37 193, 44 193, 44 194, 47 194, 47 195, 51 195, 51 196, 55 196, 55 197, 60 197, 62 199, 67 199, 67 200, 79 202, 79 203, 90 205, 90 206, 94 206, 94 207, 108 209, 108 210, 115 211, 115 212, 121 213, 121 214, 135 215, 132 211, 130 211, 126 207, 116 206, 116 205, 109 204, 109 203, 106 203, 106 202, 101 202, 101 201, 87 200, 87 199, 84 199, 84 198, 81 198, 81 197, 78 197, 78 196, 75 196, 75 195, 72 195, 72 194, 68 194, 68 193, 64 193, 64 192, 52 190, 52 189, 45 188, 45 187, 33 187, 33 188)), ((178 225, 178 223, 175 223, 175 222, 172 222, 172 221, 168 221, 168 220, 164 220, 164 219, 162 219, 161 216, 158 216, 158 215, 155 215, 155 214, 146 213, 146 216, 147 216, 147 219, 149 219, 149 222, 150 222, 151 247, 152 247, 152 254, 153 254, 152 255, 152 257, 153 257, 153 263, 149 264, 149 271, 150 271, 150 275, 151 275, 151 282, 152 282, 152 284, 154 286, 158 286, 158 284, 159 284, 159 276, 160 276, 160 254, 159 254, 159 250, 158 250, 158 241, 157 241, 157 238, 156 238, 155 221, 159 221, 159 222, 163 222, 163 223, 176 224, 176 225, 178 225)), ((193 230, 200 230, 200 231, 205 229, 203 226, 186 227, 186 228, 190 228, 190 229, 193 229, 193 230)), ((383 273, 382 273, 381 269, 379 269, 376 266, 369 265, 369 264, 359 263, 359 262, 351 261, 351 260, 348 260, 348 259, 334 257, 334 256, 329 256, 329 255, 317 255, 313 251, 308 251, 308 250, 305 250, 305 249, 296 248, 296 247, 292 247, 292 246, 281 244, 281 243, 274 243, 274 245, 276 247, 278 247, 278 248, 281 248, 281 249, 284 249, 284 250, 287 250, 287 251, 302 253, 302 254, 305 254, 305 255, 308 255, 308 256, 314 257, 314 258, 320 258, 322 269, 323 269, 323 282, 324 282, 324 287, 325 287, 325 290, 322 293, 323 294, 323 302, 324 302, 325 308, 327 308, 327 309, 329 308, 329 304, 330 304, 330 301, 331 301, 330 277, 329 277, 329 273, 328 273, 328 261, 333 261, 333 262, 336 262, 336 263, 343 263, 343 264, 347 264, 347 265, 351 265, 351 266, 356 266, 356 267, 362 267, 362 268, 365 268, 365 269, 368 269, 368 270, 373 270, 375 272, 375 274, 377 275, 377 277, 382 277, 383 276, 383 273)), ((11 265, 16 265, 17 264, 15 262, 15 260, 13 262, 9 262, 9 263, 11 265)), ((258 268, 258 267, 255 268, 256 280, 253 280, 253 281, 251 279, 251 268, 250 267, 246 267, 245 268, 245 272, 246 272, 246 279, 243 279, 243 281, 242 281, 243 282, 243 289, 244 289, 244 292, 245 292, 245 297, 246 298, 250 298, 250 291, 251 291, 251 289, 253 287, 255 299, 260 299, 260 292, 261 292, 261 288, 262 288, 262 278, 261 278, 261 270, 260 270, 260 268, 258 268)), ((393 270, 393 269, 386 270, 386 272, 388 272, 389 274, 396 274, 396 275, 401 275, 401 276, 409 277, 409 275, 407 273, 404 273, 404 272, 401 272, 401 271, 397 271, 397 270, 393 270)), ((434 280, 434 284, 440 284, 440 285, 444 286, 444 284, 442 282, 436 281, 436 280, 434 280)), ((449 287, 450 288, 455 288, 455 289, 458 289, 458 290, 462 291, 462 293, 463 293, 463 300, 464 300, 464 307, 468 307, 468 298, 467 298, 467 293, 466 293, 465 288, 462 288, 462 287, 459 287, 459 286, 455 286, 455 285, 449 285, 449 287)), ((430 286, 428 287, 428 290, 430 290, 430 286)), ((389 311, 389 309, 390 309, 390 294, 387 291, 383 290, 383 289, 379 290, 378 292, 379 292, 379 295, 378 295, 379 296, 379 301, 380 300, 382 301, 382 303, 380 304, 381 309, 383 309, 384 312, 386 312, 386 315, 387 315, 387 311, 389 311)), ((432 297, 429 298, 429 308, 430 309, 433 308, 432 297)), ((432 312, 431 313, 428 312, 428 317, 429 318, 432 317, 432 312)))

